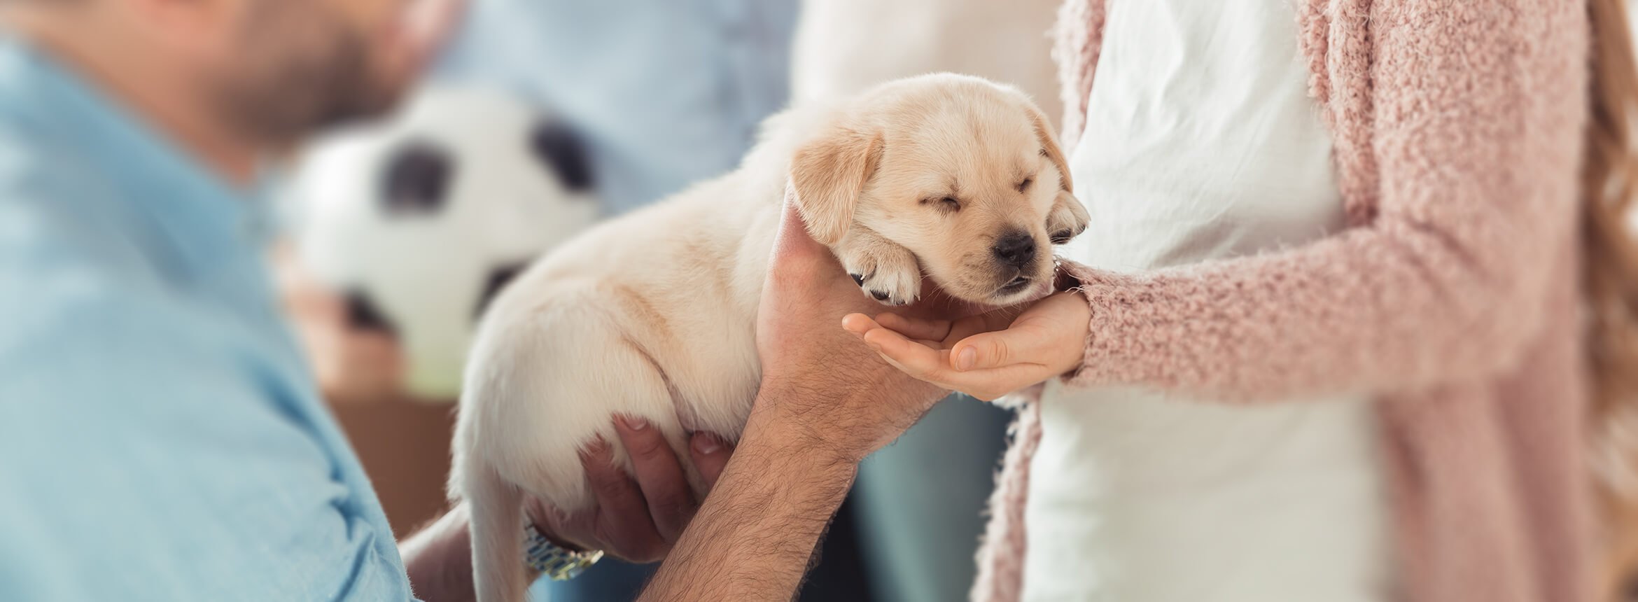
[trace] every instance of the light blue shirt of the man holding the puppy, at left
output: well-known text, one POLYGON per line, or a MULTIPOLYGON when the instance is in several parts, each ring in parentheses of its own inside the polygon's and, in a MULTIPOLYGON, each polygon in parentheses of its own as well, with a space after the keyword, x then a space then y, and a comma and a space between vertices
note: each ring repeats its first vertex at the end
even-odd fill
POLYGON ((260 201, 0 38, 0 600, 405 600, 260 201))

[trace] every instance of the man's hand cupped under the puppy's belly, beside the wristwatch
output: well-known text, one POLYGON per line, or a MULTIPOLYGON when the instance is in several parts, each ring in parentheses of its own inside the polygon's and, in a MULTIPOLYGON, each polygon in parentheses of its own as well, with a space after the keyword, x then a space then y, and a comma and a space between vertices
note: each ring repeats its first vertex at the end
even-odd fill
MULTIPOLYGON (((557 545, 603 550, 631 563, 655 563, 683 535, 701 499, 695 499, 681 463, 658 429, 640 419, 616 417, 614 430, 636 474, 614 465, 613 448, 600 440, 580 455, 596 497, 591 509, 567 514, 529 499, 526 510, 536 528, 557 545)), ((688 452, 709 486, 722 474, 734 448, 713 434, 696 432, 688 452)))

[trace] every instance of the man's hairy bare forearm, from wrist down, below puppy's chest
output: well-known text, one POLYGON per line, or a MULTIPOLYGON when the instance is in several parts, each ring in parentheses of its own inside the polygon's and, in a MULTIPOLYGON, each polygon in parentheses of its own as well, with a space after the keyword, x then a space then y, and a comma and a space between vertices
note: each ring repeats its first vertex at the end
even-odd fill
POLYGON ((786 600, 858 465, 814 448, 758 401, 722 478, 642 600, 786 600), (763 411, 767 409, 767 411, 763 411))

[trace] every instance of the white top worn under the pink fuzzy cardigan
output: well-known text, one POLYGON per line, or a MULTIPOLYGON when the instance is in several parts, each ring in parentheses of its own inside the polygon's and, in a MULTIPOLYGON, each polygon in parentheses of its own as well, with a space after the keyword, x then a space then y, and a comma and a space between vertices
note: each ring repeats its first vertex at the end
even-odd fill
MULTIPOLYGON (((1289 2, 1109 5, 1070 159, 1093 219, 1065 257, 1138 272, 1343 226, 1289 2)), ((1387 501, 1364 394, 1228 404, 1052 383, 1042 429, 1025 600, 1387 599, 1387 501)))

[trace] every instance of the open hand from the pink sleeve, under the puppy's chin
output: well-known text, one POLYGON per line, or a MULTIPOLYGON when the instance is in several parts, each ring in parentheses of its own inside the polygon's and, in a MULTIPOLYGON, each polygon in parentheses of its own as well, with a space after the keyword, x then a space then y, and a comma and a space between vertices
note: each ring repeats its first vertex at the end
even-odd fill
POLYGON ((1081 365, 1093 311, 1081 293, 958 321, 848 314, 842 327, 927 383, 991 401, 1081 365))

